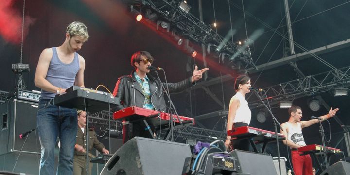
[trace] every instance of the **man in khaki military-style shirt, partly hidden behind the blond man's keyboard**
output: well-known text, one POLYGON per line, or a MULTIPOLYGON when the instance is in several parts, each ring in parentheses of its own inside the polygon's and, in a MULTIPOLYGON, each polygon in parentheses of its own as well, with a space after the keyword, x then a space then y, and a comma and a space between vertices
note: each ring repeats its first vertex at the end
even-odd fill
MULTIPOLYGON (((86 175, 86 112, 78 110, 78 131, 77 131, 77 141, 74 150, 74 164, 73 173, 74 175, 86 175)), ((92 147, 101 153, 109 154, 109 151, 105 149, 105 146, 100 143, 97 139, 93 128, 89 129, 89 147, 88 150, 91 152, 92 147)), ((91 157, 89 157, 91 159, 91 157)), ((92 170, 92 163, 89 163, 89 173, 92 170)))

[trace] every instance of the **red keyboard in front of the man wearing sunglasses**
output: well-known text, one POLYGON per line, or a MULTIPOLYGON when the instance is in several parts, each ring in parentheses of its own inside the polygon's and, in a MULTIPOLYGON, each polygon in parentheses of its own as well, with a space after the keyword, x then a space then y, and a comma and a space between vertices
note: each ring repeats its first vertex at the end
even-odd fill
MULTIPOLYGON (((173 115, 172 117, 173 117, 173 122, 179 123, 175 115, 173 115)), ((179 118, 183 123, 189 123, 194 125, 193 118, 184 117, 184 116, 179 116, 179 118)), ((126 121, 130 121, 130 122, 147 119, 148 123, 152 123, 154 126, 158 126, 158 125, 169 124, 170 114, 132 106, 132 107, 127 107, 117 112, 114 112, 113 119, 115 120, 125 119, 126 121), (154 115, 157 115, 157 114, 159 115, 155 117, 154 115)))

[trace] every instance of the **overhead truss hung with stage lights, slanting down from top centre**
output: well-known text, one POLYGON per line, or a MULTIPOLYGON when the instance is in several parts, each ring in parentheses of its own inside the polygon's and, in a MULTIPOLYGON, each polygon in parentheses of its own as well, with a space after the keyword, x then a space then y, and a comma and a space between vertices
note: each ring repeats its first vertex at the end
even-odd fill
MULTIPOLYGON (((139 8, 140 12, 146 11, 146 18, 152 20, 152 15, 147 13, 147 9, 152 9, 153 13, 157 14, 158 20, 169 23, 172 28, 185 38, 191 39, 198 44, 207 45, 207 47, 215 47, 214 52, 216 57, 220 57, 219 63, 227 65, 233 64, 235 67, 241 64, 252 66, 253 70, 257 69, 255 63, 251 58, 250 48, 248 43, 246 46, 237 46, 234 42, 229 42, 230 36, 223 37, 214 31, 210 25, 196 18, 191 13, 186 13, 179 8, 181 0, 143 0, 142 5, 133 6, 132 8, 139 8), (148 17, 147 17, 148 16, 148 17), (226 61, 225 61, 226 60, 226 61), (240 63, 237 64, 236 63, 240 63)), ((158 29, 157 23, 157 29, 158 29)), ((169 32, 170 29, 168 28, 169 32)), ((232 31, 228 33, 232 34, 232 31)), ((174 34, 173 34, 174 35, 174 34)), ((208 51, 209 52, 209 51, 208 51)), ((240 68, 239 68, 240 69, 240 68)))

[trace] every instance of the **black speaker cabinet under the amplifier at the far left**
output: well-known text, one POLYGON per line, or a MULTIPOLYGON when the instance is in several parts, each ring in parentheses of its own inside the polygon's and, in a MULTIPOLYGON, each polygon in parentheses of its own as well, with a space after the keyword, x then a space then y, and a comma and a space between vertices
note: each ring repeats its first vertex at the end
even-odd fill
POLYGON ((37 111, 37 103, 18 99, 0 105, 0 155, 20 151, 25 138, 20 139, 19 135, 32 129, 35 131, 28 135, 22 152, 35 154, 41 152, 36 132, 37 111))

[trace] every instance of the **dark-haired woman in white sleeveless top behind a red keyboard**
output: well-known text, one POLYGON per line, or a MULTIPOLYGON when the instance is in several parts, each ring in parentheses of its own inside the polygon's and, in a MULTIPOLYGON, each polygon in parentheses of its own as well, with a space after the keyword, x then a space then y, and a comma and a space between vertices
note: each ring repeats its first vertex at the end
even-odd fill
MULTIPOLYGON (((248 126, 251 119, 251 111, 245 94, 250 92, 250 78, 247 75, 240 75, 236 78, 234 88, 236 95, 231 98, 228 110, 227 131, 232 128, 248 126)), ((249 151, 249 140, 239 140, 231 144, 231 136, 227 136, 225 145, 229 150, 240 149, 249 151)))

